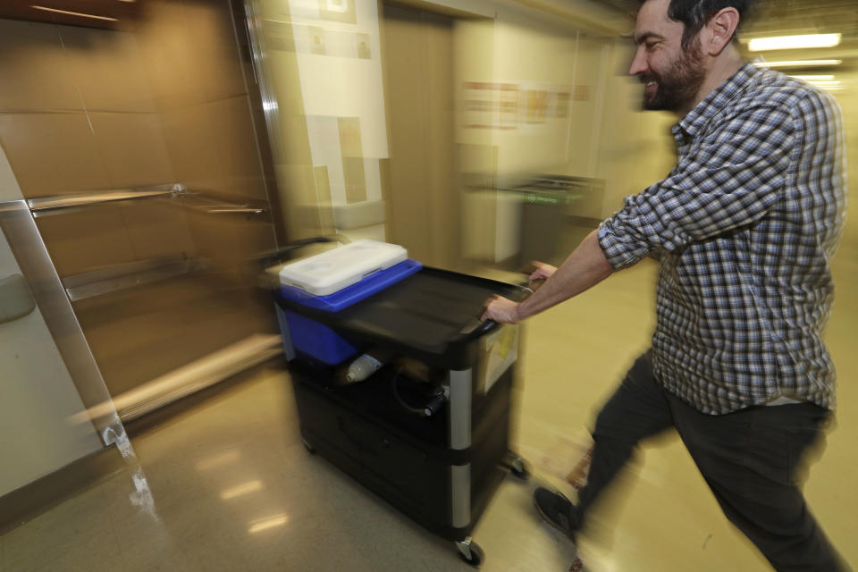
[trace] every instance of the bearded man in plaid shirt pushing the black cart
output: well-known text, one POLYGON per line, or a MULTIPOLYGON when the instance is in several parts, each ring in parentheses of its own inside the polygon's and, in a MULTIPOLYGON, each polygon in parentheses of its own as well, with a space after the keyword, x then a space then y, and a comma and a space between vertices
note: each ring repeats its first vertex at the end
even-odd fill
POLYGON ((744 63, 736 29, 748 0, 646 0, 629 73, 644 107, 679 118, 677 165, 626 198, 521 303, 484 318, 515 323, 646 256, 660 261, 652 348, 601 409, 588 482, 573 505, 534 503, 574 538, 638 442, 679 433, 729 520, 778 570, 845 569, 799 487, 798 461, 835 407, 823 341, 829 261, 845 215, 836 102, 744 63))

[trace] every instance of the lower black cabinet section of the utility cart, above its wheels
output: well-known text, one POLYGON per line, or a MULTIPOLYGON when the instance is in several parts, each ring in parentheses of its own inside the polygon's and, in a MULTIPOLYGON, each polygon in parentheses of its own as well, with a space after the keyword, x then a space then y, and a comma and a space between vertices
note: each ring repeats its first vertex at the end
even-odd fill
POLYGON ((469 564, 482 563, 483 551, 471 538, 477 520, 510 470, 527 475, 523 461, 509 452, 511 370, 474 404, 466 450, 446 446, 448 410, 418 420, 426 425, 417 428, 407 415, 395 415, 383 375, 346 388, 320 383, 312 372, 294 367, 291 377, 307 450, 456 543, 469 564))

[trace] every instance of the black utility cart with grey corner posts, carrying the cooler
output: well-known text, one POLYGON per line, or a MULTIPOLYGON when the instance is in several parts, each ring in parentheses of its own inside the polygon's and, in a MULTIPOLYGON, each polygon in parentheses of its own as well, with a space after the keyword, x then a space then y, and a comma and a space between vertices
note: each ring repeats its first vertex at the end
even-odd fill
POLYGON ((509 452, 519 326, 479 322, 494 294, 524 297, 502 282, 423 267, 337 312, 274 289, 301 435, 318 453, 478 566, 471 539, 506 475, 525 478, 509 452), (295 350, 304 335, 286 315, 323 324, 384 365, 359 383, 295 350))

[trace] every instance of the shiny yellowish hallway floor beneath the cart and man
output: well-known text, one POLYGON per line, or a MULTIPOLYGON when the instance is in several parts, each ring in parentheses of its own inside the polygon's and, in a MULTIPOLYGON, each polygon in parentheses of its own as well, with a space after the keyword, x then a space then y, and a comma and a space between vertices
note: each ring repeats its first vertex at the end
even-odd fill
MULTIPOLYGON (((838 256, 829 346, 838 426, 806 493, 834 543, 858 563, 858 266, 838 256)), ((585 447, 594 408, 652 329, 654 266, 618 273, 526 330, 517 450, 560 485, 585 447)), ((467 570, 425 533, 299 440, 288 376, 274 367, 133 438, 139 465, 0 537, 0 568, 27 570, 467 570)), ((604 571, 767 569, 728 525, 677 439, 652 443, 581 539, 604 571)), ((475 531, 490 572, 568 569, 575 551, 543 526, 531 484, 501 485, 475 531)))

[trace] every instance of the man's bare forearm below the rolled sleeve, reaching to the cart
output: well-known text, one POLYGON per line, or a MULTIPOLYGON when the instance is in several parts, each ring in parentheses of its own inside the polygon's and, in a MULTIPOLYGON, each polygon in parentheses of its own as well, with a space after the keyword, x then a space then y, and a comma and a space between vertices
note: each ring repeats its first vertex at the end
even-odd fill
POLYGON ((599 246, 598 231, 581 241, 543 287, 518 306, 519 319, 539 314, 595 286, 614 272, 599 246))

